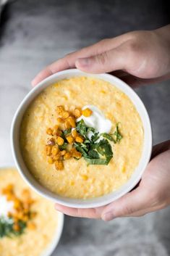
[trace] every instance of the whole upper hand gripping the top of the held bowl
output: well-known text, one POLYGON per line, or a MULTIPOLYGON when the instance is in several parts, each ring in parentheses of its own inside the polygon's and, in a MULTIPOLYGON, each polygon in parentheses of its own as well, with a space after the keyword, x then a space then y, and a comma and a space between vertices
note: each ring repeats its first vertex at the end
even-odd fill
POLYGON ((113 73, 131 86, 166 80, 170 78, 170 25, 125 33, 75 51, 48 65, 32 84, 73 67, 87 73, 113 73))

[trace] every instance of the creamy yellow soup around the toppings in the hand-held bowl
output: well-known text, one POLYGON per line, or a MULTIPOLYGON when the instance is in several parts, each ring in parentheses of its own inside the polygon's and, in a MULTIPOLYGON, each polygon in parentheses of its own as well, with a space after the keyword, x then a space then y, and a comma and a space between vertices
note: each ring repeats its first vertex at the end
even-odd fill
POLYGON ((49 86, 33 100, 22 119, 20 146, 27 168, 39 183, 61 196, 87 199, 109 194, 129 180, 140 161, 143 136, 143 123, 128 96, 104 80, 75 77, 49 86), (56 106, 88 104, 111 120, 111 131, 120 123, 123 138, 119 144, 111 143, 114 156, 109 165, 87 165, 83 157, 71 158, 64 161, 64 170, 56 170, 44 149, 46 129, 57 124, 56 106))

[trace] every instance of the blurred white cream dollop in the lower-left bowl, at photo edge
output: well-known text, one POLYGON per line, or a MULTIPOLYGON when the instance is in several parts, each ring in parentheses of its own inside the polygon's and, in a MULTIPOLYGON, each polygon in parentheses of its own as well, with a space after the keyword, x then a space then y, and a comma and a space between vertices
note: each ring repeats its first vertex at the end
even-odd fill
POLYGON ((0 195, 0 218, 8 218, 8 213, 14 210, 14 202, 7 201, 7 197, 0 195))

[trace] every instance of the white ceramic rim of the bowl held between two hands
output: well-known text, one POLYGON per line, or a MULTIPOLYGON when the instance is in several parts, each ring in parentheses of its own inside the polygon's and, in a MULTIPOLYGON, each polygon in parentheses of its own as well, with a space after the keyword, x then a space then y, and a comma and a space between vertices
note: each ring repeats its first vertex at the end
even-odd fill
POLYGON ((126 83, 124 83, 119 78, 114 77, 113 75, 109 74, 88 74, 83 73, 80 70, 72 69, 72 70, 64 70, 50 77, 43 80, 39 83, 35 88, 33 88, 25 99, 21 102, 20 106, 17 109, 17 112, 14 115, 14 119, 12 122, 12 131, 11 131, 11 141, 12 141, 12 153, 14 156, 15 164, 17 165, 17 169, 20 171, 20 174, 25 179, 25 181, 44 197, 48 199, 54 200, 54 202, 58 202, 61 205, 65 205, 68 207, 78 207, 78 208, 88 208, 88 207, 99 207, 102 205, 107 205, 110 202, 122 197, 128 191, 130 191, 134 186, 140 181, 141 176, 146 168, 150 160, 150 154, 152 150, 152 131, 150 126, 150 119, 148 117, 148 112, 145 109, 143 102, 140 100, 139 96, 132 90, 126 83), (38 181, 31 175, 27 167, 25 166, 25 162, 22 159, 22 154, 20 152, 20 143, 19 143, 19 135, 20 135, 20 124, 22 121, 22 116, 27 109, 30 102, 35 99, 35 96, 41 93, 44 88, 50 86, 52 83, 57 82, 58 80, 62 80, 64 78, 72 78, 74 76, 87 76, 93 78, 99 78, 102 80, 106 80, 107 82, 113 84, 120 90, 122 90, 129 99, 135 105, 137 111, 139 112, 140 118, 143 121, 143 128, 144 128, 144 145, 143 145, 143 154, 140 159, 139 165, 135 169, 132 177, 124 184, 120 189, 112 192, 111 194, 106 194, 103 197, 97 197, 93 199, 70 199, 66 197, 60 197, 57 194, 52 193, 45 187, 41 186, 38 181))

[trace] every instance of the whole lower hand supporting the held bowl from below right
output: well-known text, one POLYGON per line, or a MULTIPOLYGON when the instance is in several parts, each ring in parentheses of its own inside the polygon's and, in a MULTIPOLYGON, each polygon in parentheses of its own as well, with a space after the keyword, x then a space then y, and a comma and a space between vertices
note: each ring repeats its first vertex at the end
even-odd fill
POLYGON ((111 204, 91 209, 56 204, 56 210, 76 217, 112 220, 163 209, 170 205, 170 140, 154 146, 152 157, 138 186, 111 204))

